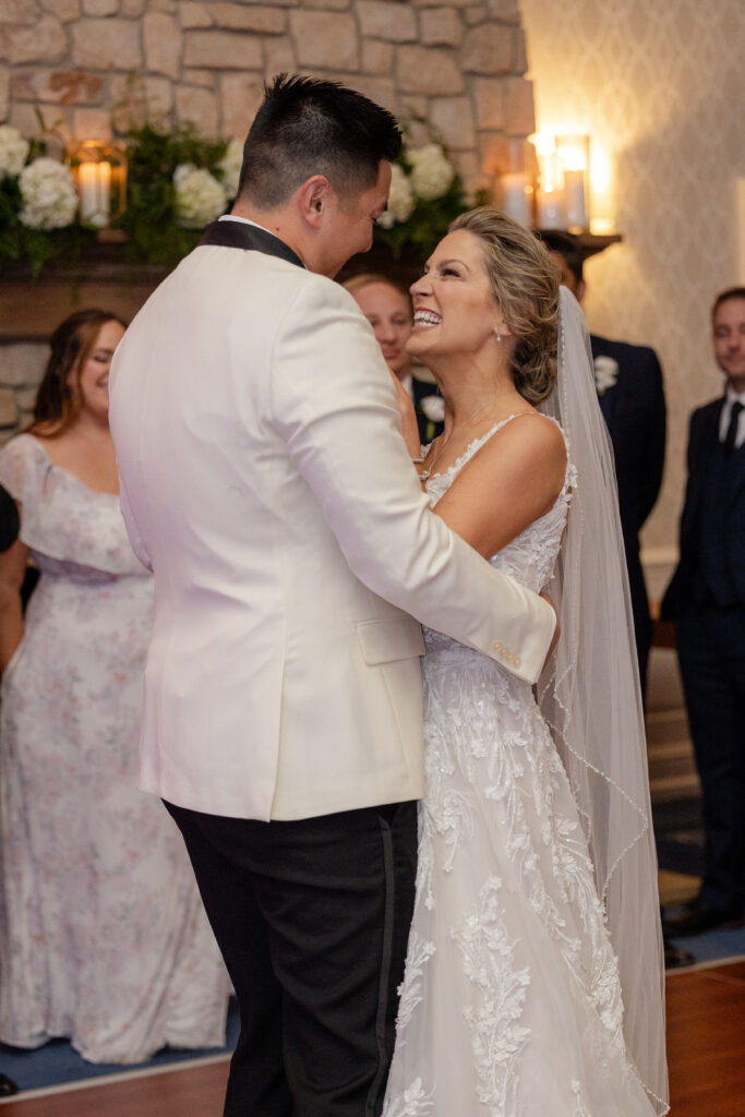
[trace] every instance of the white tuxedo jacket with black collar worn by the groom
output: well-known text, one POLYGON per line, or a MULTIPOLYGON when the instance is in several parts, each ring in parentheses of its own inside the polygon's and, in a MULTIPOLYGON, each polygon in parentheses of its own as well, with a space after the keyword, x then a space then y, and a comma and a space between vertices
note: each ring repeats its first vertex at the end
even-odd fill
POLYGON ((354 299, 256 227, 209 235, 111 375, 155 574, 141 786, 265 820, 420 798, 419 621, 535 680, 553 611, 429 510, 354 299))

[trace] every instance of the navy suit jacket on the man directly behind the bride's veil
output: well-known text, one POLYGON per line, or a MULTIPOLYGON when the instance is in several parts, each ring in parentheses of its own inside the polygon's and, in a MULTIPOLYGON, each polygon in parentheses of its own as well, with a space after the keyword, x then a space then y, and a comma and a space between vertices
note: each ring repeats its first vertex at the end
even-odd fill
POLYGON ((651 621, 639 557, 639 532, 662 484, 667 411, 662 370, 655 350, 591 335, 592 355, 612 357, 618 380, 600 397, 613 443, 621 529, 631 588, 631 605, 640 659, 651 642, 651 621))

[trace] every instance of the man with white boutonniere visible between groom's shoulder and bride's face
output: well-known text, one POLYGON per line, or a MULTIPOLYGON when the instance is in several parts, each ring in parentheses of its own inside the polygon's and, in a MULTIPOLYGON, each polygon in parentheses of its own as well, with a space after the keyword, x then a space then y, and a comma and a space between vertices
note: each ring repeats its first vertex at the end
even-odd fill
POLYGON ((344 286, 373 327, 386 365, 411 397, 419 437, 422 446, 428 446, 442 433, 445 403, 437 394, 437 385, 421 376, 407 352, 414 324, 409 292, 393 279, 373 271, 353 276, 344 286))

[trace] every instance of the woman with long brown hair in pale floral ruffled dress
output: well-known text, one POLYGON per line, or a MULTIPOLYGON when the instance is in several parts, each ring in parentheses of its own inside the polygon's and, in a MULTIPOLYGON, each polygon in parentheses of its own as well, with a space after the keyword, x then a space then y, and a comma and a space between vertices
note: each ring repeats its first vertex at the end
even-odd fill
POLYGON ((63 322, 34 424, 0 452, 20 509, 0 556, 0 1040, 127 1063, 223 1043, 228 990, 181 837, 136 786, 153 586, 108 430, 123 334, 103 311, 63 322))

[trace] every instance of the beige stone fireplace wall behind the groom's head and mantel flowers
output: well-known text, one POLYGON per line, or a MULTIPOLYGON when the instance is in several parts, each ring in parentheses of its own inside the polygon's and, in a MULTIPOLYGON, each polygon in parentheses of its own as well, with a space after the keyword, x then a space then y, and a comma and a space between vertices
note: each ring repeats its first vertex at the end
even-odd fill
MULTIPOLYGON (((40 113, 66 140, 108 139, 145 115, 242 139, 265 78, 300 71, 361 89, 410 123, 413 143, 434 132, 476 189, 508 139, 534 130, 526 66, 517 0, 0 2, 0 123, 27 136, 40 113)), ((28 414, 42 351, 0 353, 0 439, 28 414)))

